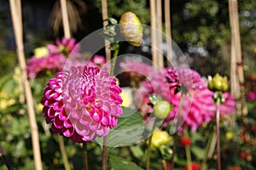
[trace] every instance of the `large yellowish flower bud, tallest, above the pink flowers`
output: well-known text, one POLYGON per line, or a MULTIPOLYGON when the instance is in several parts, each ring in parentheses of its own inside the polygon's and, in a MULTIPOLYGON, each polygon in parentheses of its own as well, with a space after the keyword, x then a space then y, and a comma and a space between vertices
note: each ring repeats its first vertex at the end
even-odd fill
POLYGON ((136 14, 122 14, 119 24, 121 33, 131 45, 139 47, 143 44, 143 26, 136 14))

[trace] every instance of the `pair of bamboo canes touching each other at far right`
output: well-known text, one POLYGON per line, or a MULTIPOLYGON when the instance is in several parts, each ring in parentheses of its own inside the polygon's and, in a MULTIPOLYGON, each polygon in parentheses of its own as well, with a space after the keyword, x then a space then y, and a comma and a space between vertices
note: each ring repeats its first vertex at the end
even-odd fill
POLYGON ((247 115, 237 0, 229 0, 231 28, 231 94, 237 99, 237 115, 247 115))

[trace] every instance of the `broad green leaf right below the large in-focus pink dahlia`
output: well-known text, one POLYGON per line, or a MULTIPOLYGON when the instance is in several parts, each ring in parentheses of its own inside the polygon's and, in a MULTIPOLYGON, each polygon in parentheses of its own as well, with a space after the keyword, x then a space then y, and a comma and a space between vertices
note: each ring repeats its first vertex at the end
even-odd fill
MULTIPOLYGON (((136 144, 143 139, 143 116, 140 112, 123 108, 123 116, 119 117, 117 127, 113 127, 108 133, 108 146, 120 147, 136 144)), ((103 138, 97 138, 96 142, 102 144, 103 138)))

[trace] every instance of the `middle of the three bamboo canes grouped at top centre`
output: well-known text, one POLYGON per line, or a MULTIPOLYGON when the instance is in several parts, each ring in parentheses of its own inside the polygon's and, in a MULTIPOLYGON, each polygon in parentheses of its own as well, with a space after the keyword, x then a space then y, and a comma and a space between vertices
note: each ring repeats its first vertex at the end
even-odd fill
POLYGON ((157 27, 157 60, 160 68, 164 66, 164 56, 162 50, 163 34, 162 34, 162 1, 156 0, 156 27, 157 27))

